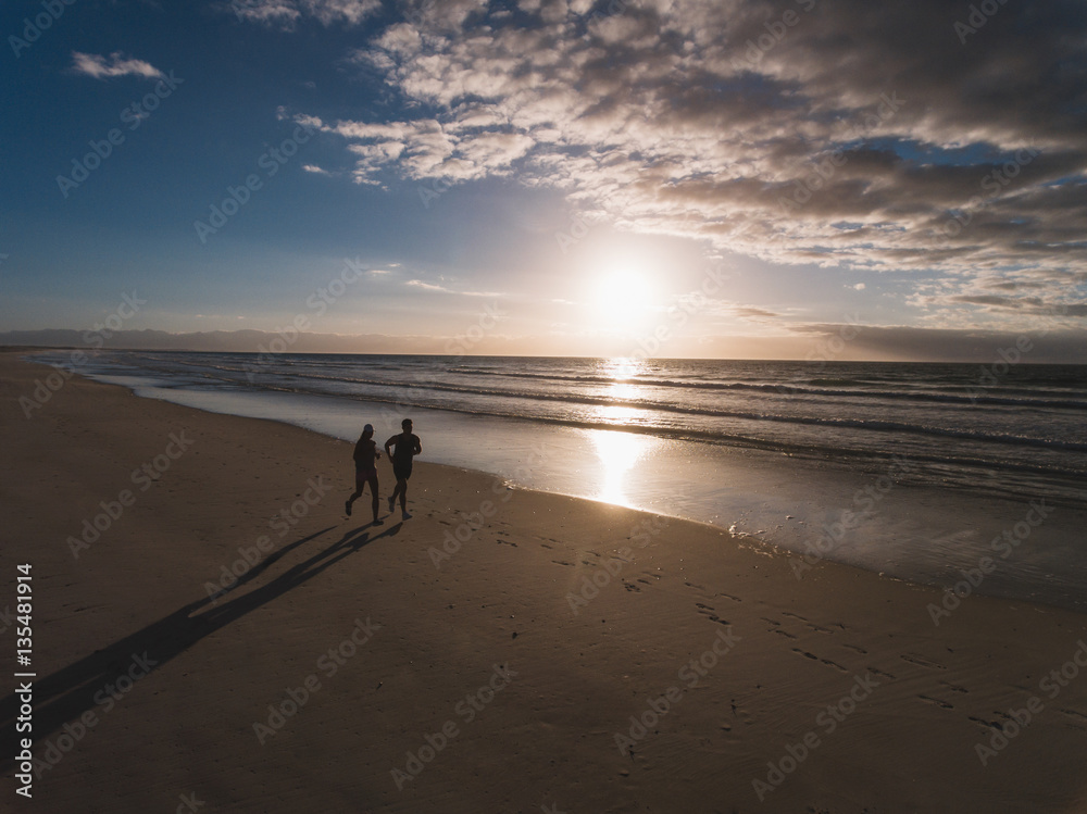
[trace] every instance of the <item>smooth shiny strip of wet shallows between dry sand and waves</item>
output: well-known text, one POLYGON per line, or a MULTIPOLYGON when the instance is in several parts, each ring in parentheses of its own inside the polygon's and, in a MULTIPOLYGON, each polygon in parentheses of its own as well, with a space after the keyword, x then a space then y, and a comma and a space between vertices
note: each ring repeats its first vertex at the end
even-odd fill
MULTIPOLYGON (((273 419, 352 443, 360 414, 383 438, 399 431, 404 415, 401 405, 392 410, 332 395, 208 392, 103 378, 145 398, 273 419)), ((832 560, 949 590, 988 556, 998 567, 972 590, 1087 613, 1087 549, 1076 544, 1087 508, 1063 500, 1060 491, 1010 494, 928 483, 927 476, 917 483, 924 463, 899 455, 846 466, 623 428, 480 418, 434 408, 411 412, 425 427, 425 460, 503 477, 518 488, 710 524, 809 561, 832 560), (526 465, 539 460, 541 446, 546 460, 526 465), (1045 522, 1024 526, 1036 516, 1038 500, 1046 505, 1045 522)))

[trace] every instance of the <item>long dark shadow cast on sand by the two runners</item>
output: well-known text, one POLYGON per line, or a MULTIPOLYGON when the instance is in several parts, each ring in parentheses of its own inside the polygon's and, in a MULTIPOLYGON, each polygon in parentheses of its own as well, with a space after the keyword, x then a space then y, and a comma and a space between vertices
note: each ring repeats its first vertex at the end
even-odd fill
MULTIPOLYGON (((40 743, 48 735, 65 723, 74 721, 87 710, 97 706, 104 696, 99 696, 100 701, 96 702, 96 694, 99 694, 107 685, 114 684, 118 676, 125 674, 133 664, 134 656, 141 656, 147 652, 148 662, 153 662, 151 672, 161 669, 174 656, 185 652, 205 636, 226 627, 250 611, 284 596, 317 576, 325 568, 359 551, 363 546, 383 537, 396 536, 401 528, 402 524, 398 523, 371 537, 370 531, 363 530, 363 527, 360 526, 346 533, 328 548, 290 567, 266 585, 238 594, 238 591, 248 583, 263 574, 287 553, 330 531, 332 527, 300 538, 270 554, 247 572, 226 594, 220 594, 214 600, 208 597, 190 602, 148 625, 142 630, 118 639, 102 650, 96 650, 90 655, 70 664, 47 678, 35 680, 34 741, 40 743), (224 596, 232 594, 235 594, 236 598, 224 601, 224 596)), ((0 729, 3 731, 14 731, 18 704, 18 699, 14 693, 0 700, 0 729)), ((9 751, 12 749, 10 743, 11 741, 9 741, 9 747, 4 749, 4 756, 13 759, 15 752, 14 750, 9 751)))

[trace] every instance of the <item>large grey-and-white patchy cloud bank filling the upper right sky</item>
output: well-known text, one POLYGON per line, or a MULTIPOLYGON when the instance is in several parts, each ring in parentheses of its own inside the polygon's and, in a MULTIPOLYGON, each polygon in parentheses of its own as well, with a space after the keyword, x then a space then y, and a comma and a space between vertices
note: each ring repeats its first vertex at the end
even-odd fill
POLYGON ((952 297, 1003 276, 1076 317, 1087 17, 1074 0, 1000 5, 966 42, 964 10, 942 0, 485 7, 409 3, 350 54, 404 112, 327 126, 357 180, 512 176, 596 221, 717 251, 935 274, 914 302, 948 324, 991 316, 952 297))

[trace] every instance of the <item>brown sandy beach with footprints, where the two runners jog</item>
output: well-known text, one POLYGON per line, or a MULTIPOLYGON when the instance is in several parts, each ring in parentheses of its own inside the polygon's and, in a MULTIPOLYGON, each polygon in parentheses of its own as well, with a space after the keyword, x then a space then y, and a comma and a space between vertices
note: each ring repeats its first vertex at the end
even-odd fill
POLYGON ((427 463, 418 424, 413 517, 373 527, 348 442, 79 376, 28 418, 48 368, 0 365, 0 608, 33 577, 32 665, 7 615, 3 659, 36 674, 5 810, 1087 811, 1087 617, 979 596, 982 562, 961 599, 798 579, 427 463))

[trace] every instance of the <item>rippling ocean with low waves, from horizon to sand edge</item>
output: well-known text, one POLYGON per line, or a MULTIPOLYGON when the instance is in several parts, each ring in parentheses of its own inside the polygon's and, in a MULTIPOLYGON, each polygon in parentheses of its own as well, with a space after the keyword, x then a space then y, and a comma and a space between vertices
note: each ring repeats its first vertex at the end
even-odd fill
POLYGON ((410 415, 424 461, 947 587, 1041 505, 977 590, 1087 610, 1083 365, 102 351, 74 370, 345 440, 410 415))

